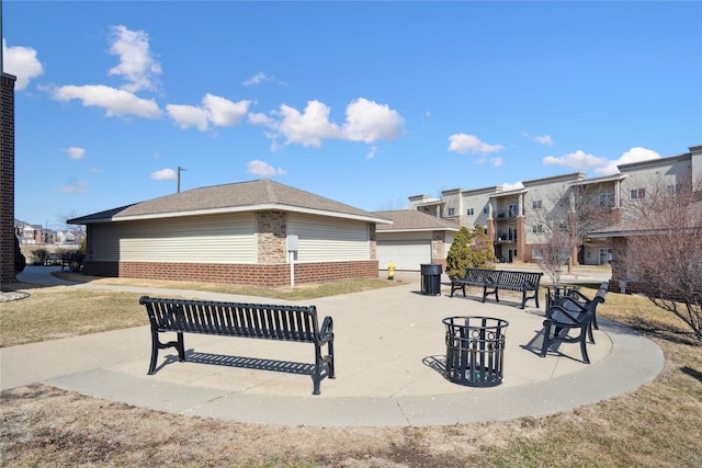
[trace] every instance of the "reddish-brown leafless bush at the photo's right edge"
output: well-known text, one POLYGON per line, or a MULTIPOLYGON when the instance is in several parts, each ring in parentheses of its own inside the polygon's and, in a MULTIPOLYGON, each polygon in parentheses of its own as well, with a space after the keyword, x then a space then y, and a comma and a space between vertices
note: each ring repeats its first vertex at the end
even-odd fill
POLYGON ((627 267, 644 294, 702 344, 702 181, 656 180, 627 205, 627 267))

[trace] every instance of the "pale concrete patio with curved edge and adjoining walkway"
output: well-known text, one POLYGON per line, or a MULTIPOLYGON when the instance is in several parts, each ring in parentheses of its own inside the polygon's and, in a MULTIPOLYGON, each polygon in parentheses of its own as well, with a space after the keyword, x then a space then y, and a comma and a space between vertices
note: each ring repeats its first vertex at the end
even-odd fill
MULTIPOLYGON (((69 287, 261 301, 204 292, 69 287)), ((535 350, 543 310, 451 298, 445 285, 441 296, 418 289, 417 273, 416 282, 396 287, 310 301, 335 321, 337 378, 325 378, 319 396, 312 395, 312 377, 295 372, 314 362, 313 346, 301 343, 190 334, 185 347, 192 362, 179 363, 174 350, 165 350, 157 373, 147 376, 148 327, 2 349, 0 384, 7 389, 44 383, 137 407, 240 422, 426 426, 565 411, 634 390, 663 369, 663 353, 650 340, 603 319, 597 344, 588 347, 592 364, 578 361, 577 344, 542 358, 535 350), (465 387, 442 375, 441 320, 465 315, 509 322, 505 379, 497 387, 465 387)))

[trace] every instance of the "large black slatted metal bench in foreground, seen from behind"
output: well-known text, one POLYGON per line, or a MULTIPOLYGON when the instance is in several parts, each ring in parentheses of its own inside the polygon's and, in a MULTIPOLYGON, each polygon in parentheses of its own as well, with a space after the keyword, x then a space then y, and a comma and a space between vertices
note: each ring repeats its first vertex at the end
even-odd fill
POLYGON ((314 395, 319 395, 322 366, 335 378, 333 322, 325 317, 321 328, 315 306, 273 306, 262 304, 220 303, 166 299, 143 296, 151 323, 151 362, 148 374, 156 373, 158 351, 176 347, 179 361, 185 361, 183 333, 242 336, 263 340, 293 341, 315 345, 313 372, 314 395), (177 340, 162 343, 159 333, 176 332, 177 340), (322 355, 327 345, 328 354, 322 355))

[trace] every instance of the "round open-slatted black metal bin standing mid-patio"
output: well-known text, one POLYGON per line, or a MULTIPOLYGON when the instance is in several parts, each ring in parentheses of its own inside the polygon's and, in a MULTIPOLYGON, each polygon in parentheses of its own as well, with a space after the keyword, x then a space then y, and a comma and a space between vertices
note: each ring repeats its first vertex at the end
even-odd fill
POLYGON ((469 387, 502 383, 507 320, 490 317, 449 317, 444 377, 469 387))

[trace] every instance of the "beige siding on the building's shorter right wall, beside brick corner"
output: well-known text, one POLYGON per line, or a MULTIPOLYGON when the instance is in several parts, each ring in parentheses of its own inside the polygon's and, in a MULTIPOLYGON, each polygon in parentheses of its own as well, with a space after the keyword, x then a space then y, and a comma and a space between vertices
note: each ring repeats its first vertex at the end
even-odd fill
POLYGON ((298 236, 296 262, 342 262, 371 258, 369 226, 363 221, 291 215, 287 233, 298 236))

